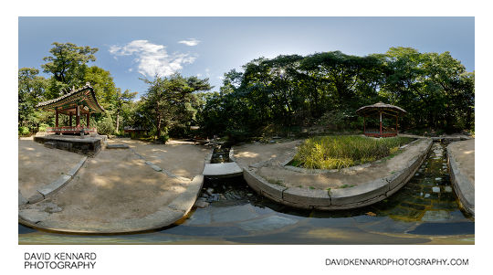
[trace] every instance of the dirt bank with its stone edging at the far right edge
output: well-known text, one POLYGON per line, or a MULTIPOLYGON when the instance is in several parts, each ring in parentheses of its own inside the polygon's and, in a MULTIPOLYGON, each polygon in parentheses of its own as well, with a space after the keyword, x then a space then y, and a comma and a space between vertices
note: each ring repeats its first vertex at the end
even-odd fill
POLYGON ((450 177, 464 208, 475 213, 475 141, 450 143, 447 148, 450 177))

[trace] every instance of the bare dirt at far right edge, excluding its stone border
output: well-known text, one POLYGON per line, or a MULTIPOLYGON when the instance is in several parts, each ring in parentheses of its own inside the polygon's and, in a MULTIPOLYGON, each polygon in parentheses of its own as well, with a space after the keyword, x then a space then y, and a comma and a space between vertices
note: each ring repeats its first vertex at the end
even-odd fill
POLYGON ((450 150, 454 153, 456 163, 459 165, 460 173, 467 175, 469 181, 474 185, 474 139, 450 143, 450 150))

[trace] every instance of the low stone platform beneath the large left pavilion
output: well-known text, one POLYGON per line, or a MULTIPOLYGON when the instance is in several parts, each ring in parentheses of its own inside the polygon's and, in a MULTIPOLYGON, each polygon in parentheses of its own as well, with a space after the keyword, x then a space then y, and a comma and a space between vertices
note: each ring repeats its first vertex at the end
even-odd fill
POLYGON ((48 134, 44 136, 35 136, 34 141, 43 143, 49 148, 67 150, 74 153, 82 153, 94 156, 101 150, 101 145, 106 141, 106 135, 96 136, 68 136, 48 134))

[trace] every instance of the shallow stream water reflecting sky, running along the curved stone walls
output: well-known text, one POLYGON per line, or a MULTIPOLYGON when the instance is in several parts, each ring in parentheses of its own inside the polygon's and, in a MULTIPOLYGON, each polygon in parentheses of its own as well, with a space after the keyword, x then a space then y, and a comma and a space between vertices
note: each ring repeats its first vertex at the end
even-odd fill
MULTIPOLYGON (((206 180, 196 208, 172 227, 149 233, 94 236, 19 225, 19 244, 474 244, 475 223, 459 209, 446 165, 446 144, 434 143, 414 177, 372 206, 300 210, 258 196, 241 178, 206 180)), ((227 157, 217 154, 217 162, 227 157)), ((226 160, 227 161, 227 160, 226 160)))

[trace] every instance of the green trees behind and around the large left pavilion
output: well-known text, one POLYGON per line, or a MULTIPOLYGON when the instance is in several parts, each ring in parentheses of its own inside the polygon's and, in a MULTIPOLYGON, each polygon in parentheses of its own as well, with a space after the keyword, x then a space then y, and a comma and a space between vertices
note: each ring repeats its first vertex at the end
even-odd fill
MULTIPOLYGON (((53 46, 49 51, 51 55, 43 58, 47 63, 41 66, 44 72, 50 75, 48 79, 39 76, 38 69, 19 69, 19 134, 45 131, 48 126, 54 126, 55 114, 51 111, 36 110, 36 104, 40 101, 56 99, 73 88, 83 86, 86 82, 94 88, 100 105, 106 110, 105 113, 91 115, 91 124, 98 127, 100 133, 118 134, 121 132, 121 124, 130 125, 127 112, 137 92, 129 90, 121 92, 115 87, 110 71, 88 66, 90 61, 96 60, 94 54, 98 49, 79 47, 72 43, 55 42, 53 46)), ((60 115, 59 122, 61 125, 66 125, 68 117, 60 115)), ((85 120, 81 120, 81 124, 84 123, 85 120)))

